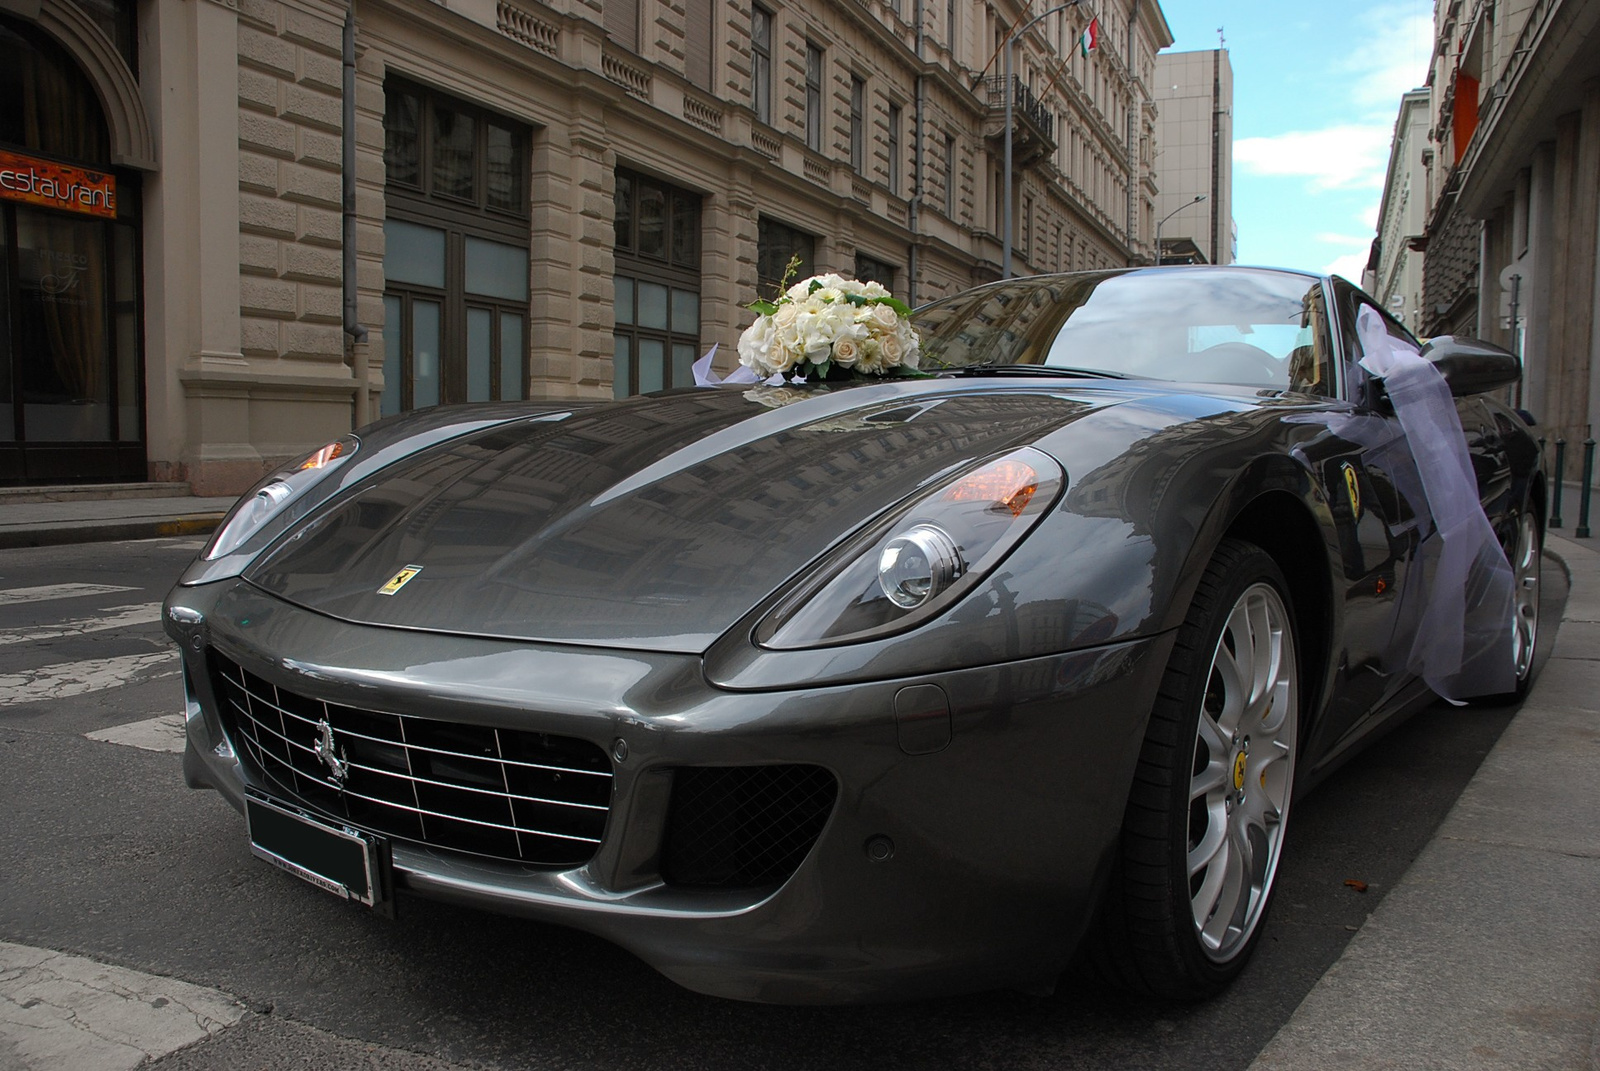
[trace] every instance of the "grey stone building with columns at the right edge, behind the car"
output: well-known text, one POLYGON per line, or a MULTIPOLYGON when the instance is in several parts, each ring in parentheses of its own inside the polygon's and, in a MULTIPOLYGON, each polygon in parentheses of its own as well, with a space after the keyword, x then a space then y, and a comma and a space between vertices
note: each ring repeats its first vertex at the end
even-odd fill
POLYGON ((1421 330, 1518 351, 1517 400, 1578 443, 1600 424, 1600 5, 1438 0, 1429 90, 1421 330))

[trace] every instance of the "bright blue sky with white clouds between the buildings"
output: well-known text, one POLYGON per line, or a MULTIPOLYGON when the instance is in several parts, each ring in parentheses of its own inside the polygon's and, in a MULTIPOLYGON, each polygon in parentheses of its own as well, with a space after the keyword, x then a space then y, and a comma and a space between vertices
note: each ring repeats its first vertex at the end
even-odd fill
POLYGON ((1238 259, 1357 283, 1400 94, 1427 77, 1434 0, 1162 0, 1168 51, 1234 67, 1238 259))

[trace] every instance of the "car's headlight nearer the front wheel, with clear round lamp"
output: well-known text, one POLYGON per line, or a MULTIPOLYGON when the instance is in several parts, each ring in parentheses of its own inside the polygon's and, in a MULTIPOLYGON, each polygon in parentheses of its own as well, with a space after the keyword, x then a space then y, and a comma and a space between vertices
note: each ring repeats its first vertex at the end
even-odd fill
POLYGON ((1032 448, 968 469, 824 559, 757 626, 755 640, 824 647, 926 621, 987 575, 1064 483, 1061 466, 1032 448))

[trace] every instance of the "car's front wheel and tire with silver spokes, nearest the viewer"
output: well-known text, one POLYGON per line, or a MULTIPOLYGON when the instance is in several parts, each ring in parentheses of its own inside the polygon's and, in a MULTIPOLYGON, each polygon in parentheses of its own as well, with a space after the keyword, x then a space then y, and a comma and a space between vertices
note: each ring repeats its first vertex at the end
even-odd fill
POLYGON ((1226 540, 1162 677, 1090 961, 1168 999, 1250 959, 1283 850, 1299 733, 1294 613, 1261 548, 1226 540))

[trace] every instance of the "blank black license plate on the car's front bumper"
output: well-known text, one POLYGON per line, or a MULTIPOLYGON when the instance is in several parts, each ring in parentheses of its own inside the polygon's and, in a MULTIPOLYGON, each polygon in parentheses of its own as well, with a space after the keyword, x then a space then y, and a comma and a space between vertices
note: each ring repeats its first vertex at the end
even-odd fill
POLYGON ((250 850, 278 869, 344 900, 392 914, 389 842, 334 826, 250 792, 245 796, 250 850))

